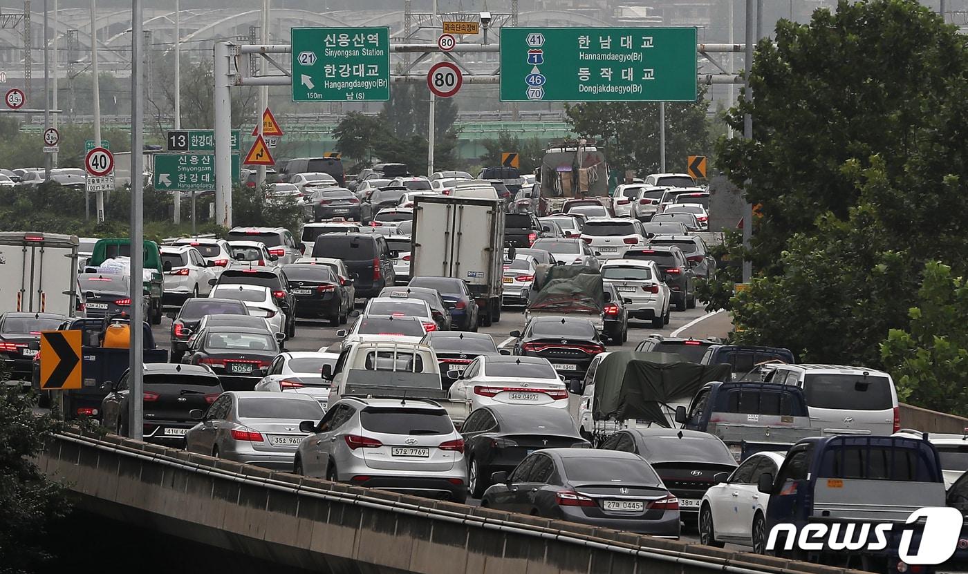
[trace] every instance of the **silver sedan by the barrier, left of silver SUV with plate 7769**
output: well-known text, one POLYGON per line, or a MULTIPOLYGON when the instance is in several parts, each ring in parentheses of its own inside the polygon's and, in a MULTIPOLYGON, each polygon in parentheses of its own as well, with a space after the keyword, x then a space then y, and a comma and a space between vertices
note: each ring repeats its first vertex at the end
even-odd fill
POLYGON ((318 420, 322 407, 295 393, 228 391, 208 411, 192 411, 200 421, 185 435, 190 452, 288 471, 307 433, 302 420, 318 420))

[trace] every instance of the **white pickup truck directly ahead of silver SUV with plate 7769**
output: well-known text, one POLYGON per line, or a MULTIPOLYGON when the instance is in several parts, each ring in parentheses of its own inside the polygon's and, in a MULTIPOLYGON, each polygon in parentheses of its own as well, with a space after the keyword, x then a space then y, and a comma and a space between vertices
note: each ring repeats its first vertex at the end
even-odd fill
POLYGON ((329 404, 345 396, 428 399, 438 403, 458 429, 469 415, 469 403, 447 398, 440 384, 437 354, 428 345, 394 341, 361 341, 340 352, 336 364, 322 365, 331 381, 329 404))

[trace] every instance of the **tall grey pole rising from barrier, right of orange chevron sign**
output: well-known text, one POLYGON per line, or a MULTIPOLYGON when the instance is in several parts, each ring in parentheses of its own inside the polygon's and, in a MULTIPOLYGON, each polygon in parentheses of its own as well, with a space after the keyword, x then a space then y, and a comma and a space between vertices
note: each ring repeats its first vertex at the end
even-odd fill
MULTIPOLYGON (((141 363, 144 356, 144 320, 143 308, 134 304, 141 301, 144 279, 144 227, 142 221, 141 194, 144 191, 144 155, 142 154, 144 113, 143 105, 143 70, 141 66, 141 43, 144 40, 143 23, 141 21, 141 0, 132 0, 131 22, 131 355, 130 375, 128 377, 131 388, 128 396, 131 403, 131 421, 128 433, 131 438, 140 441, 144 432, 144 372, 141 363)), ((99 142, 100 143, 100 142, 99 142)))

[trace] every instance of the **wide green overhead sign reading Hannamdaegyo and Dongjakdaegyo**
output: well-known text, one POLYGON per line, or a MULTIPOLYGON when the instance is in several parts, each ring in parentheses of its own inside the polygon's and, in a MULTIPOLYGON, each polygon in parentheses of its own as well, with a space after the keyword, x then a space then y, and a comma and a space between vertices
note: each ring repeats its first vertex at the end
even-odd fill
POLYGON ((695 28, 500 31, 501 101, 692 101, 696 71, 695 28))

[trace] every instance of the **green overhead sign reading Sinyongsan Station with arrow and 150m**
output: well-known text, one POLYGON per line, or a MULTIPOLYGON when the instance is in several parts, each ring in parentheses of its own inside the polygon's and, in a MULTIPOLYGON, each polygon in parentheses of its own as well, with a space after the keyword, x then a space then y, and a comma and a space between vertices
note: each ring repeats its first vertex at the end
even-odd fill
POLYGON ((292 101, 390 99, 389 28, 292 28, 291 40, 292 101))

